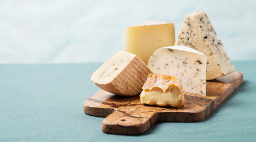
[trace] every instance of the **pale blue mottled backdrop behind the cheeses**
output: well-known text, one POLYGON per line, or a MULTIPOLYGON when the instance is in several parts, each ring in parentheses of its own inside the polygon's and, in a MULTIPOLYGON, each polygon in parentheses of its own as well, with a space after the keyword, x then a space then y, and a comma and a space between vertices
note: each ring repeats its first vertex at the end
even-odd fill
POLYGON ((255 0, 0 0, 0 63, 104 62, 123 29, 208 14, 231 60, 256 60, 255 0))

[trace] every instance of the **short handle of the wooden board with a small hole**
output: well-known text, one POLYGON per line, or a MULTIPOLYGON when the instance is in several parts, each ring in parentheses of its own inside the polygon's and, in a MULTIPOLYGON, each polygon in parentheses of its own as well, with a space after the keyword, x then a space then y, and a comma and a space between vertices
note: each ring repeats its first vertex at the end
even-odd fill
POLYGON ((144 133, 158 119, 155 112, 143 114, 117 110, 108 115, 102 122, 104 133, 137 135, 144 133))

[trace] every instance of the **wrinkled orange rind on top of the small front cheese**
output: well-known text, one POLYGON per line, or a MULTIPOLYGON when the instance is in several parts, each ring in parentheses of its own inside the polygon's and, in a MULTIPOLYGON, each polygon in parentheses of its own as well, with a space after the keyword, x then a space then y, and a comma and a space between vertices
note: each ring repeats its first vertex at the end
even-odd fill
POLYGON ((147 74, 147 79, 142 89, 150 91, 159 88, 163 92, 168 91, 171 86, 176 86, 183 93, 181 81, 177 77, 172 77, 166 74, 147 74))

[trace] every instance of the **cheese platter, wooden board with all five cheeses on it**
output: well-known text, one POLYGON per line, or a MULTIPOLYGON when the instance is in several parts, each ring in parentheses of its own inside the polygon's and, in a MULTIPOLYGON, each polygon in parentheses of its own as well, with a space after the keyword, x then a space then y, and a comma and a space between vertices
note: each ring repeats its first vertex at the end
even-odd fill
POLYGON ((84 104, 106 117, 104 133, 137 135, 155 122, 197 122, 244 81, 203 11, 187 14, 175 41, 174 24, 147 21, 125 28, 125 51, 91 75, 101 90, 84 104))

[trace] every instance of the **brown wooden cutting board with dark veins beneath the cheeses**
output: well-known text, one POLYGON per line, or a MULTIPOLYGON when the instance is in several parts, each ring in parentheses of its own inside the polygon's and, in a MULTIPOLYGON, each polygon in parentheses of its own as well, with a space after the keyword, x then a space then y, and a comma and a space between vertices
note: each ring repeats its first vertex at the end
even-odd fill
POLYGON ((203 120, 243 81, 243 73, 239 71, 207 81, 207 96, 184 92, 185 103, 180 109, 147 106, 140 104, 139 96, 119 97, 100 90, 84 102, 84 112, 87 115, 106 117, 102 122, 104 133, 136 135, 144 133, 155 122, 203 120))

